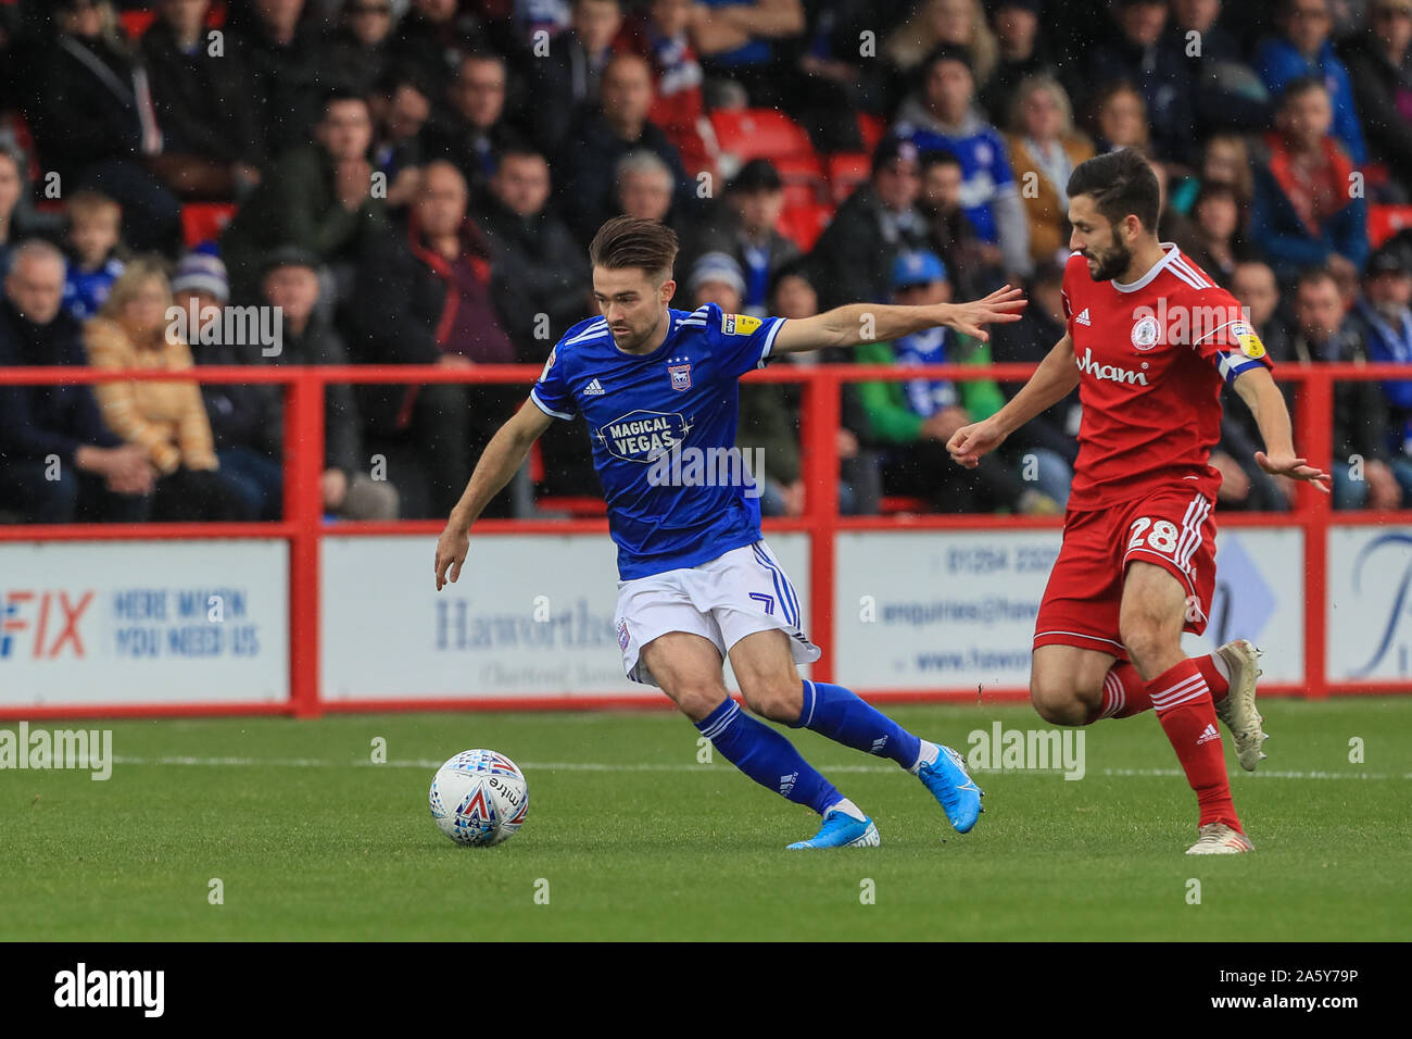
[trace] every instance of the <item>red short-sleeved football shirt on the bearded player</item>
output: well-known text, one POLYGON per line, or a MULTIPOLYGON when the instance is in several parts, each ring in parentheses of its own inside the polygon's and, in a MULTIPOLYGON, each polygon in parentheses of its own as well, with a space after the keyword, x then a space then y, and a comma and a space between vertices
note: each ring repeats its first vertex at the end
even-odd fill
POLYGON ((1221 382, 1260 365, 1265 348, 1240 303, 1182 254, 1132 284, 1094 281, 1069 257, 1063 305, 1079 365, 1079 461, 1069 507, 1097 509, 1189 481, 1216 496, 1209 464, 1221 435, 1221 382))

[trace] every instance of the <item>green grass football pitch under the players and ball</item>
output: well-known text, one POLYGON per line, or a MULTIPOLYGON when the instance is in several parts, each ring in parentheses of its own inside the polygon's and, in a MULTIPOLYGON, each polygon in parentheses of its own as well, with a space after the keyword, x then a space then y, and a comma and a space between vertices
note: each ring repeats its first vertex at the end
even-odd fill
MULTIPOLYGON (((0 773, 0 939, 1405 940, 1412 701, 1264 712, 1268 773, 1226 741, 1257 851, 1217 859, 1182 854, 1195 800, 1151 715, 1086 729, 1082 780, 979 775, 967 837, 891 763, 791 732, 882 835, 812 854, 784 850, 810 811, 699 765, 665 711, 35 722, 112 728, 117 761, 107 782, 0 773), (453 845, 426 809, 433 766, 470 746, 530 780, 497 848, 453 845)), ((957 748, 995 720, 1046 728, 1019 705, 892 714, 957 748)))

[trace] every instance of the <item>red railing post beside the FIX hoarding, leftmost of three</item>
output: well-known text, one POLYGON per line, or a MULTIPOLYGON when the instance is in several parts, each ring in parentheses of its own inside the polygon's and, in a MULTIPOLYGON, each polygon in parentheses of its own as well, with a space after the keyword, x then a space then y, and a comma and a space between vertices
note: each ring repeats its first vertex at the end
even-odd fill
POLYGON ((323 380, 316 368, 288 383, 284 409, 284 517, 289 537, 289 711, 322 714, 319 701, 319 539, 323 527, 323 380))

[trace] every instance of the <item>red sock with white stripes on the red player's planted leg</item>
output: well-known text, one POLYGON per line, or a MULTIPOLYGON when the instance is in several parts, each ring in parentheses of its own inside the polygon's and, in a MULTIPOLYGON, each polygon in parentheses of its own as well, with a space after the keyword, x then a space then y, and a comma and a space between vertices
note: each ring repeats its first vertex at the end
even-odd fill
POLYGON ((1197 826, 1226 823, 1240 830, 1226 775, 1221 734, 1216 728, 1216 705, 1197 662, 1186 659, 1163 671, 1148 683, 1148 694, 1162 731, 1182 762, 1186 782, 1196 792, 1196 803, 1202 811, 1197 826))

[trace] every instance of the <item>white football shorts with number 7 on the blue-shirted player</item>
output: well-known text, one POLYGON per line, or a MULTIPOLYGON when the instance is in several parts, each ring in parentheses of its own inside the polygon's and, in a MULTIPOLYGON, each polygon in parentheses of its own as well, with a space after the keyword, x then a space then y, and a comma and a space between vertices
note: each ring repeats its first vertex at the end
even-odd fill
POLYGON ((762 540, 698 567, 618 581, 623 671, 644 686, 659 683, 640 660, 642 646, 668 632, 710 639, 724 660, 730 647, 747 635, 778 628, 789 636, 795 663, 812 664, 819 659, 819 647, 809 642, 801 621, 799 597, 762 540))

